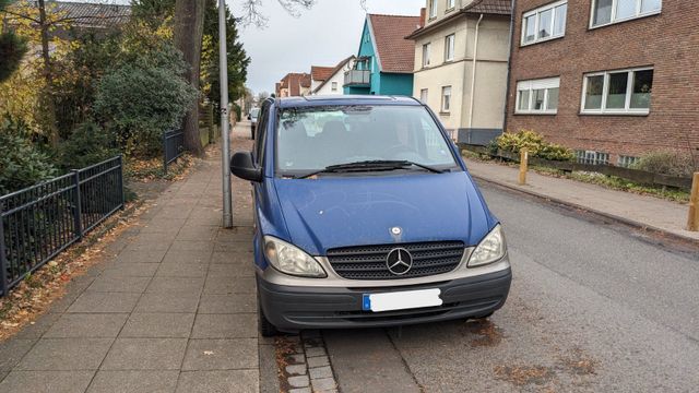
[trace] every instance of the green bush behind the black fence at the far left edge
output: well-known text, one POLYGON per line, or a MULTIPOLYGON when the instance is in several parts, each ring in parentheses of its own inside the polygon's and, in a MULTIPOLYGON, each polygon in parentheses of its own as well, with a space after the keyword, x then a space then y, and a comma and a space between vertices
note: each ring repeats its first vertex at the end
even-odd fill
POLYGON ((56 176, 56 168, 46 154, 25 136, 22 124, 0 120, 0 195, 34 186, 56 176))

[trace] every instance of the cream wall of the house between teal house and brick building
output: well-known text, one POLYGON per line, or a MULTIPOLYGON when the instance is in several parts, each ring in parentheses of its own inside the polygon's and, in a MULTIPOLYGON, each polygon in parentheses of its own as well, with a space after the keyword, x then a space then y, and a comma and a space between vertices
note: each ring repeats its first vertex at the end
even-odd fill
MULTIPOLYGON (((443 8, 445 0, 438 1, 443 8)), ((428 91, 427 105, 438 114, 447 129, 501 130, 507 90, 509 19, 485 15, 478 27, 478 52, 470 122, 475 25, 478 15, 454 19, 451 23, 415 39, 413 96, 428 91), (454 34, 454 59, 446 61, 446 37, 454 34), (430 43, 430 64, 423 68, 423 45, 430 43), (441 111, 443 86, 451 86, 451 110, 441 111)))

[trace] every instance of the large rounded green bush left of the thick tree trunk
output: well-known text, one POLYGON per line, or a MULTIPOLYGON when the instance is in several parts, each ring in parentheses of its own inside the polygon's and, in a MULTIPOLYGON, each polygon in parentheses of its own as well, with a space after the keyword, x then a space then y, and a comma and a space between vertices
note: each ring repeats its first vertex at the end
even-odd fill
POLYGON ((95 116, 128 155, 159 154, 163 133, 180 127, 197 97, 198 92, 181 78, 185 63, 179 52, 173 47, 164 50, 169 52, 130 59, 97 85, 95 116))

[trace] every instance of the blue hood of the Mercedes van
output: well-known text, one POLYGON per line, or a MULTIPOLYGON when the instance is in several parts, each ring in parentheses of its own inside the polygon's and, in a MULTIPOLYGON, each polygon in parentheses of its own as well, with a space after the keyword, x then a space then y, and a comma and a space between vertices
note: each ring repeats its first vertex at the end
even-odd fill
POLYGON ((275 179, 289 241, 312 255, 336 247, 461 240, 496 224, 464 172, 275 179), (391 228, 400 227, 393 235, 391 228))

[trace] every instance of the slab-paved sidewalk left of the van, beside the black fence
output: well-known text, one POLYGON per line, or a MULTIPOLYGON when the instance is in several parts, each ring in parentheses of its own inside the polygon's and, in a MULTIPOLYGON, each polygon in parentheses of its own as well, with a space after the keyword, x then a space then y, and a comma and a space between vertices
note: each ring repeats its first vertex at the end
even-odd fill
POLYGON ((258 392, 250 186, 233 189, 237 227, 222 229, 220 155, 169 186, 111 257, 0 343, 0 392, 258 392))

